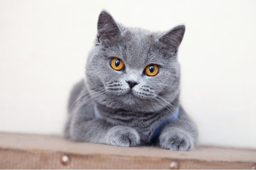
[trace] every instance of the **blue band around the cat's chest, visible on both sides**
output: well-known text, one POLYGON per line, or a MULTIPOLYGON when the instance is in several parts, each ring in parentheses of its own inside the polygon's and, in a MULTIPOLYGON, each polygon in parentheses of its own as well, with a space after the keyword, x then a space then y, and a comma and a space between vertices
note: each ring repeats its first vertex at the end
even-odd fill
MULTIPOLYGON (((174 121, 177 120, 179 117, 179 107, 177 107, 177 109, 175 109, 175 112, 167 117, 166 119, 164 119, 153 131, 153 134, 150 137, 150 142, 154 142, 156 140, 156 137, 159 135, 160 130, 163 128, 163 126, 165 125, 166 122, 170 122, 170 121, 174 121)), ((99 111, 97 109, 97 107, 94 107, 94 115, 96 118, 102 118, 102 116, 99 114, 99 111)))

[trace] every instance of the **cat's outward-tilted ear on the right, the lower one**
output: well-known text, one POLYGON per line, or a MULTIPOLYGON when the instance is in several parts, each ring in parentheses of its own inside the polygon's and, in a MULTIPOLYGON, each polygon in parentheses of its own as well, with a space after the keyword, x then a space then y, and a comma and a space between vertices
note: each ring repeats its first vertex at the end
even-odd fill
POLYGON ((184 33, 185 25, 179 25, 164 33, 164 35, 158 38, 158 41, 164 43, 164 45, 172 49, 176 54, 183 39, 184 33))

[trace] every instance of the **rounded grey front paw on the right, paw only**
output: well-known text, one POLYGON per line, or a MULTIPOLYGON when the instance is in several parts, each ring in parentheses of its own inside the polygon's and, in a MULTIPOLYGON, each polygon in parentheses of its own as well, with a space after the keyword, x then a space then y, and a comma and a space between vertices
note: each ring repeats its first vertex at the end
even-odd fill
POLYGON ((170 128, 160 135, 160 146, 173 151, 189 151, 192 148, 192 138, 181 129, 170 128))

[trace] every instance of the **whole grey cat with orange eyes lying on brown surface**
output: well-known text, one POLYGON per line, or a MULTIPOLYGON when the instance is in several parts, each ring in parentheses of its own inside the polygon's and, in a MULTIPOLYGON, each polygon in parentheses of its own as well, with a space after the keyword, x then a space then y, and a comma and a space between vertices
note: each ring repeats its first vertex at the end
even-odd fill
POLYGON ((71 92, 64 136, 115 146, 195 147, 196 125, 179 104, 177 50, 184 33, 184 25, 165 33, 127 28, 102 11, 85 78, 71 92))

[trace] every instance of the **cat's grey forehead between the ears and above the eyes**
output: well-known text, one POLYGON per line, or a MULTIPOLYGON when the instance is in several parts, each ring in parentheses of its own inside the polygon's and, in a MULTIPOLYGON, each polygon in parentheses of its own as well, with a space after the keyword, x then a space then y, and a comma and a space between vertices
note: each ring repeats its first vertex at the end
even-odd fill
POLYGON ((121 53, 121 58, 132 65, 160 64, 165 60, 157 45, 159 36, 141 28, 126 28, 113 46, 121 53))

